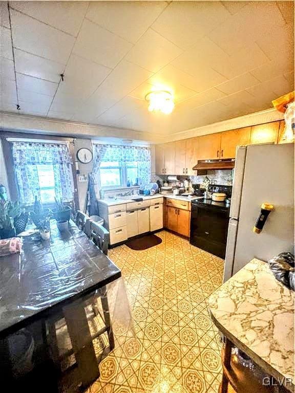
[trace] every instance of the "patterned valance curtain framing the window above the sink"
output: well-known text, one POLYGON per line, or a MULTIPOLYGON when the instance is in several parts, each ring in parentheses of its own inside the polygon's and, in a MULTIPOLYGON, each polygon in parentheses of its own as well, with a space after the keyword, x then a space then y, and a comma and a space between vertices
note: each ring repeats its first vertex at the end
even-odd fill
POLYGON ((151 149, 140 146, 120 146, 96 144, 94 154, 93 174, 99 177, 99 167, 103 161, 128 162, 136 161, 138 178, 142 183, 151 182, 151 149))

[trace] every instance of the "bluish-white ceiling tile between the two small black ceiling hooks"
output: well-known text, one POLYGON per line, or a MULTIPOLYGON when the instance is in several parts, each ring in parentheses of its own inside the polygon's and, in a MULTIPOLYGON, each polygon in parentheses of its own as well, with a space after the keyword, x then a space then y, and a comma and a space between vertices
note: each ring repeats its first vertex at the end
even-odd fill
POLYGON ((56 89, 57 83, 49 82, 47 80, 34 78, 29 75, 16 73, 17 89, 26 90, 32 93, 45 94, 47 96, 53 97, 56 89))

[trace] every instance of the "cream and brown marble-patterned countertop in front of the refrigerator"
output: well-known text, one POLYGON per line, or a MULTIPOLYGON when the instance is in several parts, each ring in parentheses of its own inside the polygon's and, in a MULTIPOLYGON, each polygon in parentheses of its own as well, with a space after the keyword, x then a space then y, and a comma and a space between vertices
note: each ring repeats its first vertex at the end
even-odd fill
POLYGON ((209 307, 230 341, 268 374, 294 385, 294 292, 268 264, 252 259, 210 296, 209 307))

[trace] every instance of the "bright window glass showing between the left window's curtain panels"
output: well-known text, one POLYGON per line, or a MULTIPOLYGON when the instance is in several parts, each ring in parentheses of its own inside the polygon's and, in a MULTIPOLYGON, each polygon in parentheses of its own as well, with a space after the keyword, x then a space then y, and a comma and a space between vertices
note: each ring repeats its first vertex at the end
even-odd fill
POLYGON ((36 165, 36 167, 38 172, 41 202, 54 202, 56 195, 53 165, 36 165))

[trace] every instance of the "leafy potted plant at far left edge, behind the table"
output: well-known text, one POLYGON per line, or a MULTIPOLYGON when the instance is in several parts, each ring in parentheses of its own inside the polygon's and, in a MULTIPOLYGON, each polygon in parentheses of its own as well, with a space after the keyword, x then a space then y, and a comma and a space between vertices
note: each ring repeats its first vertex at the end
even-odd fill
POLYGON ((7 239, 15 236, 13 220, 21 213, 18 202, 0 201, 0 237, 7 239))

